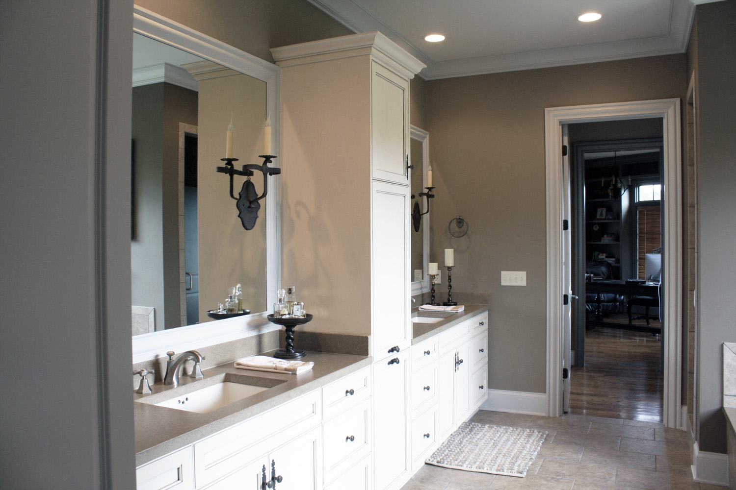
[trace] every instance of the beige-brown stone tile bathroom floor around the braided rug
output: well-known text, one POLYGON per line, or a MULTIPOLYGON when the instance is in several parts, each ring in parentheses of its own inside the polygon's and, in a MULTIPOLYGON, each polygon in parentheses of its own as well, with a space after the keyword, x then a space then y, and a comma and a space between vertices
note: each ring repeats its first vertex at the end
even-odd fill
POLYGON ((547 430, 525 478, 425 464, 402 490, 723 490, 693 482, 682 430, 586 415, 534 417, 478 411, 471 422, 547 430))

